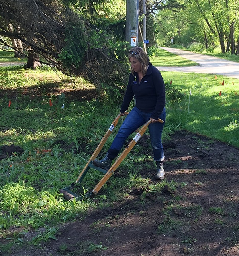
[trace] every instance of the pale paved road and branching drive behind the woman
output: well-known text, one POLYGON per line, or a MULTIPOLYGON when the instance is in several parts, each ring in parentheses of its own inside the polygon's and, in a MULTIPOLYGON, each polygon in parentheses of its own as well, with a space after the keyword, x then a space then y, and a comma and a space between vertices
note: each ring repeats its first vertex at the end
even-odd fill
POLYGON ((215 75, 224 75, 227 77, 233 77, 239 79, 239 63, 233 61, 227 61, 225 59, 219 59, 216 57, 210 57, 208 55, 192 53, 190 51, 183 51, 176 48, 160 47, 166 51, 180 55, 186 59, 190 59, 199 64, 199 66, 192 67, 157 67, 160 71, 176 71, 176 72, 195 72, 206 73, 215 75))

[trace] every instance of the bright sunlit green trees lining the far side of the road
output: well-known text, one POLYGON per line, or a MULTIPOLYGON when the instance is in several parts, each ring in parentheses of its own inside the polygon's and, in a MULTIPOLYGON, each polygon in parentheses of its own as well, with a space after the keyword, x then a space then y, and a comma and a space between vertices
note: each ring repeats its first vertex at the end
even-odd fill
POLYGON ((157 12, 159 43, 198 44, 197 51, 239 53, 239 12, 236 0, 166 1, 157 12), (177 4, 175 4, 177 3, 177 4))

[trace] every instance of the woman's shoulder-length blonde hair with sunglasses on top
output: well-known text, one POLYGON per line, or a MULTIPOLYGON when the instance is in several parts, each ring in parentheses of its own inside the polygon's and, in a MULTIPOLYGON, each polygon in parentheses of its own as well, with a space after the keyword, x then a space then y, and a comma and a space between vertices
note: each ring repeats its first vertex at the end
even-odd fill
MULTIPOLYGON (((141 48, 139 46, 133 47, 129 51, 128 59, 130 60, 131 57, 136 58, 137 61, 139 61, 141 63, 140 71, 143 75, 146 75, 148 65, 149 65, 149 57, 148 57, 147 53, 145 53, 143 48, 141 48)), ((133 68, 131 68, 131 73, 133 74, 133 68)))

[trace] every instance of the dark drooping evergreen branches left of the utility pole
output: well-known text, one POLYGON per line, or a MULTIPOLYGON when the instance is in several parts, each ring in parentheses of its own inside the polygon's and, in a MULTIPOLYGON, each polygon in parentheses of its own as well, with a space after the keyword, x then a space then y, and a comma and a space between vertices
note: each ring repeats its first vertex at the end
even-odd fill
MULTIPOLYGON (((107 1, 103 6, 109 9, 110 3, 107 1)), ((22 48, 16 46, 16 51, 27 57, 40 56, 40 62, 66 75, 82 76, 98 89, 104 85, 121 88, 129 70, 121 15, 124 9, 111 8, 112 15, 109 13, 110 18, 106 18, 102 4, 102 1, 3 0, 0 35, 18 39, 22 48)), ((4 38, 0 37, 0 42, 13 47, 4 38)))

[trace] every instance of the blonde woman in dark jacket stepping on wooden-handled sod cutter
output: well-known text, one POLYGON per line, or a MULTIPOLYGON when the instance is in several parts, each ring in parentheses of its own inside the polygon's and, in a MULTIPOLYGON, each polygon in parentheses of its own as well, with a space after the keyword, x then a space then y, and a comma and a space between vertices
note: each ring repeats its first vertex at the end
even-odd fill
POLYGON ((157 166, 155 178, 163 179, 165 174, 163 160, 165 156, 161 135, 165 122, 163 124, 158 122, 158 118, 165 121, 166 117, 163 77, 158 69, 149 62, 149 57, 141 47, 133 47, 129 51, 128 58, 131 63, 131 73, 120 112, 123 114, 128 109, 134 95, 136 105, 123 121, 106 156, 102 160, 95 159, 93 163, 108 170, 128 136, 151 119, 152 123, 149 124, 148 128, 157 166))

